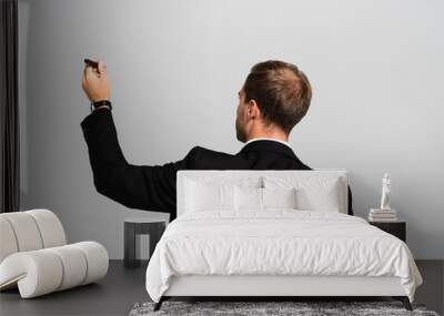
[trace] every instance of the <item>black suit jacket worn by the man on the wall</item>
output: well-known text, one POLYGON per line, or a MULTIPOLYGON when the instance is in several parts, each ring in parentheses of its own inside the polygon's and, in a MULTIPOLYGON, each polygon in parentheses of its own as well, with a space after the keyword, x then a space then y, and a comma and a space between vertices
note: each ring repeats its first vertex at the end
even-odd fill
MULTIPOLYGON (((192 147, 183 160, 163 165, 127 162, 108 109, 93 111, 80 123, 88 144, 97 191, 131 208, 170 213, 176 217, 179 170, 312 170, 280 142, 258 140, 236 154, 192 147)), ((353 215, 349 186, 349 214, 353 215)))

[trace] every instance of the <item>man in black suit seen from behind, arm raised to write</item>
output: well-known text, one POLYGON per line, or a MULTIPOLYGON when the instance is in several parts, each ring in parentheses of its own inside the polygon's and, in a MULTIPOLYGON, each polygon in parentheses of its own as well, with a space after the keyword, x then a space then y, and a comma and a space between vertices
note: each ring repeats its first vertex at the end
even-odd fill
MULTIPOLYGON (((270 60, 255 64, 238 92, 236 137, 245 143, 236 154, 201 146, 183 160, 163 165, 127 162, 111 113, 107 68, 87 65, 82 89, 95 108, 81 123, 93 181, 99 193, 131 208, 170 213, 176 217, 179 170, 311 170, 287 143, 291 130, 309 110, 312 90, 296 65, 270 60)), ((353 215, 349 187, 349 214, 353 215)))

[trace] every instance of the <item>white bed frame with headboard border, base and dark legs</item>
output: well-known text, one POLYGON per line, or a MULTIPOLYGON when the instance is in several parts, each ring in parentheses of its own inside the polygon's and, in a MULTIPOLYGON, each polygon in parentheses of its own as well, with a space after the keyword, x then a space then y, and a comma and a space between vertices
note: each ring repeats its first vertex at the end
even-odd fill
MULTIPOLYGON (((345 170, 182 170, 178 171, 178 216, 183 214, 184 180, 193 176, 261 176, 295 175, 334 176, 341 180, 342 213, 347 214, 349 177, 345 170)), ((238 300, 253 297, 254 300, 294 300, 297 298, 353 298, 392 297, 401 300, 407 310, 412 306, 398 277, 370 276, 300 276, 300 275, 184 275, 173 276, 170 287, 154 305, 160 309, 162 303, 173 297, 204 297, 238 300)))

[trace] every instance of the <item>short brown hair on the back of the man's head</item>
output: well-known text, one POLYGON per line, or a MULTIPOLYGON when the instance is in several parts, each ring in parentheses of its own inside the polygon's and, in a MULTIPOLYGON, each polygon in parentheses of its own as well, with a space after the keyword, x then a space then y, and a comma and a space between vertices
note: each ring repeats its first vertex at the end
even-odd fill
POLYGON ((274 123, 287 134, 309 111, 312 99, 306 75, 296 65, 279 60, 253 65, 243 90, 245 102, 256 102, 265 125, 274 123))

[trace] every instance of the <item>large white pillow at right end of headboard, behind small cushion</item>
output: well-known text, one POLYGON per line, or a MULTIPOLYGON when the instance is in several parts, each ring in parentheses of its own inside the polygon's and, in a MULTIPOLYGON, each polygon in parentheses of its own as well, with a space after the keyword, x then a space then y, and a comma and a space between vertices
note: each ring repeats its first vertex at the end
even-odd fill
POLYGON ((282 177, 265 176, 266 188, 296 187, 296 208, 303 211, 341 212, 341 185, 337 177, 282 177))

